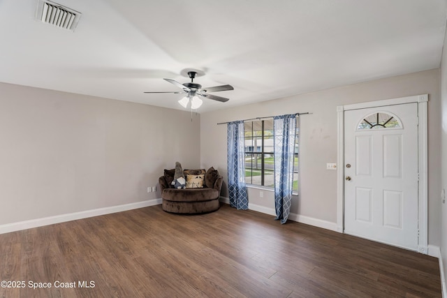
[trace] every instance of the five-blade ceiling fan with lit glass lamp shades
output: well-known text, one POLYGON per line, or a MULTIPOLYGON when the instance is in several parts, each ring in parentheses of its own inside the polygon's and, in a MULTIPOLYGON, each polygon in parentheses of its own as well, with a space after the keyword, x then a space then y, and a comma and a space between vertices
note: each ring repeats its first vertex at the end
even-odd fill
POLYGON ((191 79, 191 82, 180 84, 179 82, 171 79, 163 79, 167 82, 170 82, 171 84, 174 84, 175 86, 182 89, 182 91, 166 91, 166 92, 145 92, 145 93, 173 93, 173 94, 186 94, 184 98, 179 100, 179 104, 183 107, 187 107, 189 100, 191 100, 191 109, 197 109, 202 105, 203 101, 200 98, 210 98, 212 100, 217 100, 222 103, 225 103, 226 101, 230 100, 229 98, 221 97, 221 96, 215 96, 212 94, 208 94, 207 92, 217 92, 217 91, 227 91, 227 90, 234 90, 233 86, 231 85, 221 85, 221 86, 214 86, 214 87, 208 87, 208 88, 202 88, 202 85, 196 84, 194 82, 194 78, 196 77, 197 72, 196 71, 188 71, 188 76, 191 79))

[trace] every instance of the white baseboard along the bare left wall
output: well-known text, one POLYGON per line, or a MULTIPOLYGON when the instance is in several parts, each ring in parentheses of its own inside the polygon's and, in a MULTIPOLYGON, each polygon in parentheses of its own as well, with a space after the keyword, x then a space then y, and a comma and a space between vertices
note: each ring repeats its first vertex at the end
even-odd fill
POLYGON ((115 212, 127 211, 131 209, 138 209, 143 207, 154 206, 161 204, 161 199, 147 200, 142 202, 135 202, 130 204, 123 204, 119 206, 104 207, 86 211, 79 211, 70 214, 61 214, 57 216, 49 216, 45 218, 36 218, 30 221, 20 221, 18 223, 7 223, 0 225, 0 234, 26 230, 31 228, 42 227, 43 225, 53 225, 54 223, 64 223, 66 221, 75 221, 81 218, 88 218, 93 216, 100 216, 104 214, 111 214, 115 212))

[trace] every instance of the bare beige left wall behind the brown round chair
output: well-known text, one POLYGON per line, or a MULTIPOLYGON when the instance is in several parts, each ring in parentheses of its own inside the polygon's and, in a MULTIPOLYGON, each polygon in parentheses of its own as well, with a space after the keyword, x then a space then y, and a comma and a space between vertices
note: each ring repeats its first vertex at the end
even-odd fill
POLYGON ((160 198, 200 163, 200 115, 0 83, 0 225, 160 198))

